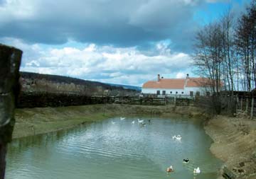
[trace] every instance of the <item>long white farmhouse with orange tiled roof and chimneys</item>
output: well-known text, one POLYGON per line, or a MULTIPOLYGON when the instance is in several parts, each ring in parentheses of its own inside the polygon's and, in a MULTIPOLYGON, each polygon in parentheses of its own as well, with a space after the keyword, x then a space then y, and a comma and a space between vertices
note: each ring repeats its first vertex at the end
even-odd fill
POLYGON ((210 95, 210 88, 206 85, 204 78, 191 78, 186 76, 186 79, 164 79, 157 75, 156 81, 147 81, 142 86, 142 93, 156 94, 161 96, 206 96, 210 95))

